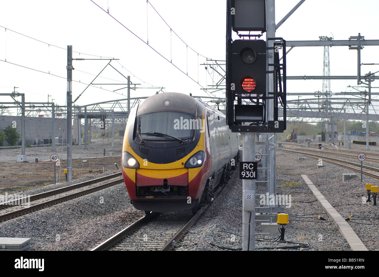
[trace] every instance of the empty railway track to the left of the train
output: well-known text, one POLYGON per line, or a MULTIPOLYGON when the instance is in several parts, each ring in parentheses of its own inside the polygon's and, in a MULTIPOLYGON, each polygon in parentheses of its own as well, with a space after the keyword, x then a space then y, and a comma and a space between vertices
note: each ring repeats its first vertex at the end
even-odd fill
POLYGON ((9 218, 17 217, 22 214, 33 212, 47 206, 52 206, 56 203, 80 197, 82 195, 114 186, 122 183, 123 178, 117 178, 122 173, 114 173, 108 176, 103 176, 94 180, 85 181, 79 184, 74 184, 60 189, 50 190, 47 192, 38 193, 29 197, 18 198, 8 202, 0 203, 0 221, 8 220, 9 218), (117 178, 116 180, 111 180, 117 178), (102 181, 111 180, 104 184, 98 184, 102 181), (16 204, 15 204, 16 203, 16 204))

